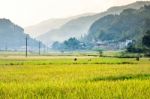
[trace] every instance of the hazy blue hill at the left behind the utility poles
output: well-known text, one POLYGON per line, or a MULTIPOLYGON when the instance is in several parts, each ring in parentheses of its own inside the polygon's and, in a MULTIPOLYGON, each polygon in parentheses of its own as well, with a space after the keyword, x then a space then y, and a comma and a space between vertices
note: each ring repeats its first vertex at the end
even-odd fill
MULTIPOLYGON (((0 19, 0 50, 21 49, 25 46, 26 34, 24 29, 8 19, 0 19)), ((38 41, 28 37, 28 46, 37 48, 38 41)))

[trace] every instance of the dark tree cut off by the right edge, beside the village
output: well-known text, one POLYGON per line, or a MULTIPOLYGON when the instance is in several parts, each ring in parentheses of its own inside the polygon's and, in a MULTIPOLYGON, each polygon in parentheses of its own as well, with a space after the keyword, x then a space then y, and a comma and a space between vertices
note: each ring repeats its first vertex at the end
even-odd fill
POLYGON ((146 55, 150 56, 150 31, 147 31, 142 39, 143 49, 146 55))

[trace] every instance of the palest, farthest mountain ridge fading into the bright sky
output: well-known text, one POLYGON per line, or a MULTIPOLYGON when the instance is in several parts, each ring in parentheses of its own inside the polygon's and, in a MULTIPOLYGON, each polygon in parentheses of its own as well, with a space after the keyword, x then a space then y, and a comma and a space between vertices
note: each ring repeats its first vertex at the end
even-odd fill
POLYGON ((30 35, 33 37, 37 37, 53 29, 60 28, 62 25, 64 25, 65 23, 67 23, 72 19, 76 19, 81 16, 88 16, 88 15, 93 15, 93 13, 86 13, 86 14, 72 16, 68 18, 62 18, 62 19, 48 19, 38 24, 25 27, 25 32, 30 33, 30 35))

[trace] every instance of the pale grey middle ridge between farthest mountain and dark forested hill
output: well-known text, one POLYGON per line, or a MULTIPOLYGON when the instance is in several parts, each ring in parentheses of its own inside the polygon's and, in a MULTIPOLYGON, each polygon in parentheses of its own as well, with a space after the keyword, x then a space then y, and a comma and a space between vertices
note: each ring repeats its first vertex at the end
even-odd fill
POLYGON ((45 44, 49 44, 53 41, 63 41, 70 37, 81 37, 81 35, 87 34, 90 26, 98 19, 109 15, 109 14, 119 14, 124 9, 134 8, 139 9, 144 5, 150 5, 149 1, 138 1, 125 6, 117 6, 108 9, 105 12, 98 13, 95 15, 88 15, 84 17, 79 17, 76 19, 72 19, 69 22, 65 23, 58 29, 50 30, 45 34, 42 34, 38 37, 45 44))

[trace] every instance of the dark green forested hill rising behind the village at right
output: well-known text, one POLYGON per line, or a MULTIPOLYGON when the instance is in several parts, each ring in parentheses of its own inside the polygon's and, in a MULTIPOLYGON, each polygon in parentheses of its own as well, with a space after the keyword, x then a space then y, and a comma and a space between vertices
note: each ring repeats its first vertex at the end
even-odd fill
POLYGON ((139 42, 150 30, 150 6, 138 10, 126 9, 120 15, 107 15, 92 24, 87 41, 125 41, 139 42))

